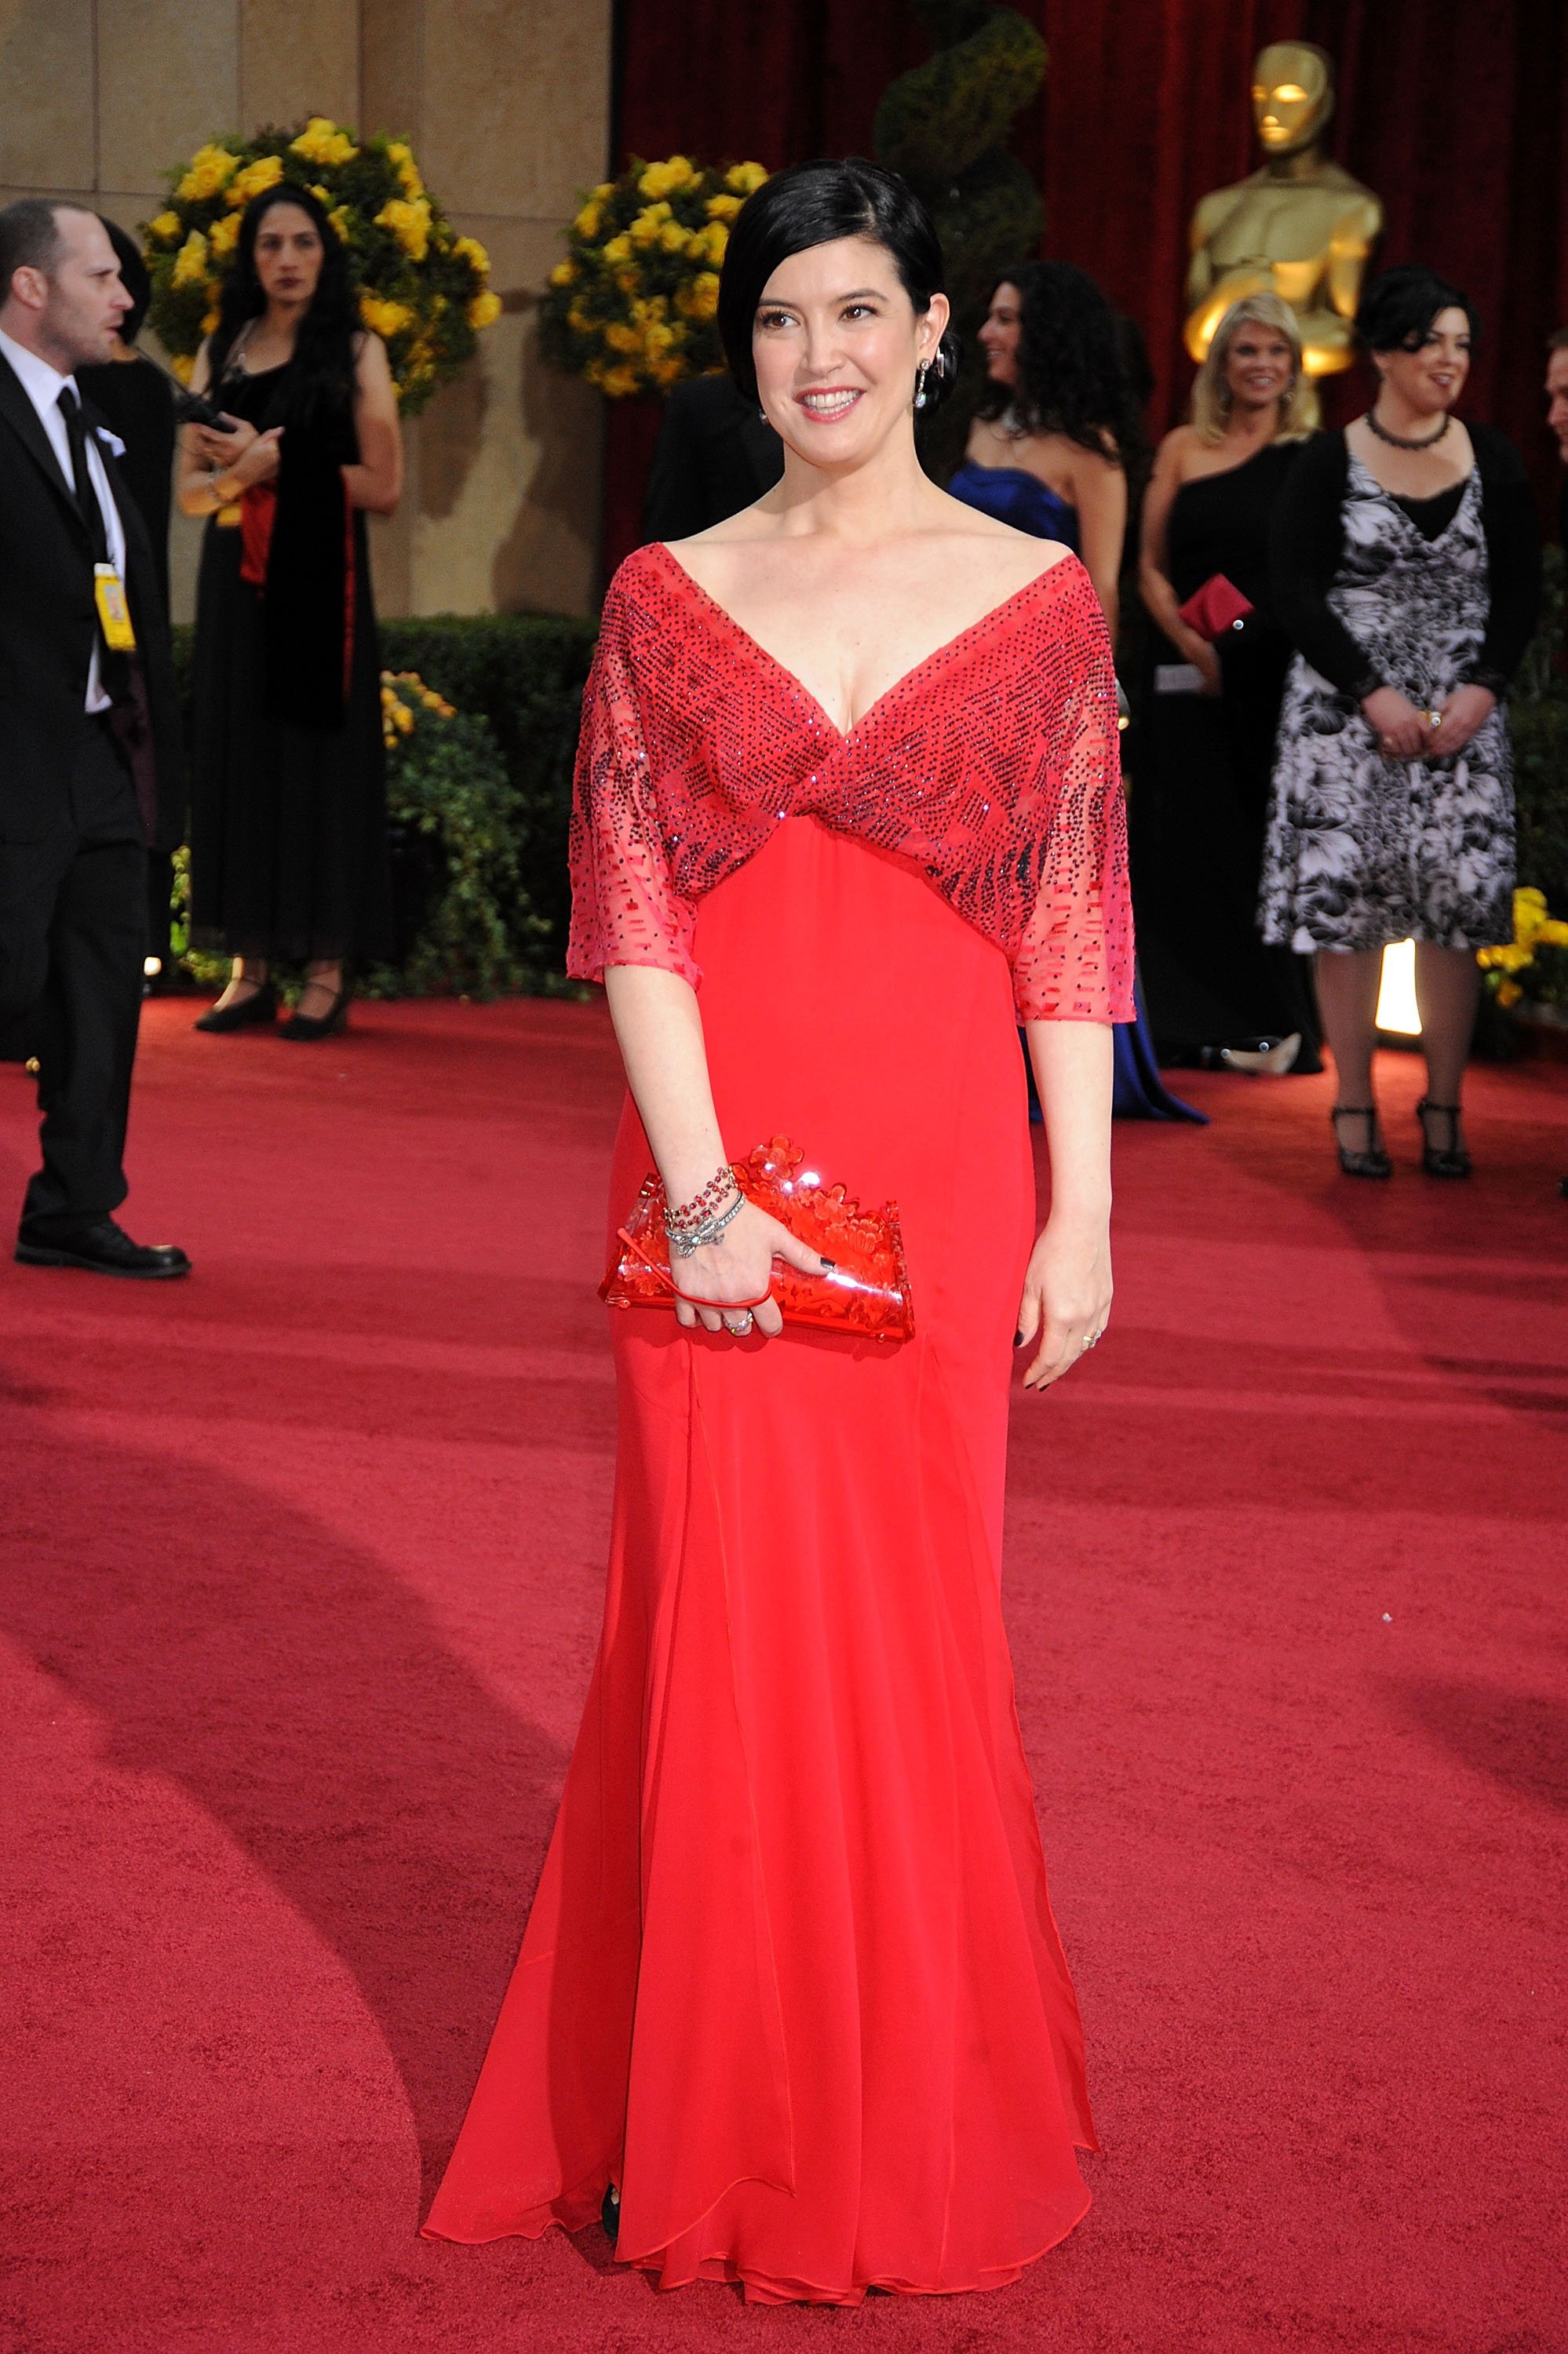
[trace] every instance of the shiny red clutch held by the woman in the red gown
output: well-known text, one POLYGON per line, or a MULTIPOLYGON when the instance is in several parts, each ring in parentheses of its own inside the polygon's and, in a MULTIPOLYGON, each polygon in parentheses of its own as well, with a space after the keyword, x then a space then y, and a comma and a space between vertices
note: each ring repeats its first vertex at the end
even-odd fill
MULTIPOLYGON (((803 1161, 805 1153, 789 1137, 775 1137, 735 1165, 735 1182, 746 1201, 777 1217, 824 1259, 833 1259, 831 1274, 819 1276, 803 1276, 796 1266, 772 1262, 768 1290, 779 1302, 784 1323, 850 1332, 859 1339, 911 1339, 913 1306, 897 1205, 862 1210, 841 1184, 824 1186, 817 1170, 803 1168, 803 1161)), ((664 1231, 664 1186, 655 1175, 643 1179, 643 1191, 619 1229, 619 1252, 610 1259, 598 1297, 612 1309, 669 1309, 676 1299, 664 1231)))

